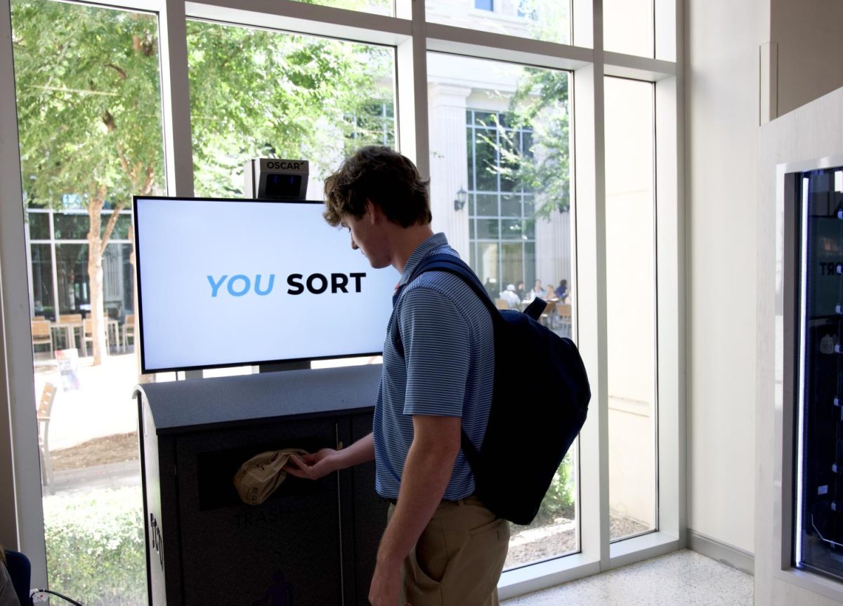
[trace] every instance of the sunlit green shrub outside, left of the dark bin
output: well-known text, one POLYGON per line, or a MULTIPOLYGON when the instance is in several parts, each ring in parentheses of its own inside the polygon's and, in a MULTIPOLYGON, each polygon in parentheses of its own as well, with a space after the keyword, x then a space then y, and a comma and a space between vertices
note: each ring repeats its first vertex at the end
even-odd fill
POLYGON ((140 486, 44 499, 50 589, 86 606, 147 603, 140 486))

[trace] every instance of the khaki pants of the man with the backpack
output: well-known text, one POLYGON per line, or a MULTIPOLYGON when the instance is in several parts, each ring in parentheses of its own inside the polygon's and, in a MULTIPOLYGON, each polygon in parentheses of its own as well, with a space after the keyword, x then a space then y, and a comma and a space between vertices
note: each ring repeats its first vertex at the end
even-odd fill
POLYGON ((509 523, 476 497, 442 501, 401 566, 398 606, 498 606, 508 547, 509 523))

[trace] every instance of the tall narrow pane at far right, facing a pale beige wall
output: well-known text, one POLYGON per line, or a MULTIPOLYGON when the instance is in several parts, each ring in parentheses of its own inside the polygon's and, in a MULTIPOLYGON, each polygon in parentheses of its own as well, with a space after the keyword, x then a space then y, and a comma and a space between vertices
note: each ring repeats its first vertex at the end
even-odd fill
POLYGON ((656 528, 652 83, 605 78, 611 539, 656 528))

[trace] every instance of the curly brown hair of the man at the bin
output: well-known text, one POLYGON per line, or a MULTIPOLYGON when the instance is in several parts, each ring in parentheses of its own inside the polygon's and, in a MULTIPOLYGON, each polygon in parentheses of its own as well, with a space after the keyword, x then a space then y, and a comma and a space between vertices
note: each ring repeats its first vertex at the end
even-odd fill
POLYGON ((361 147, 325 179, 325 221, 336 227, 344 215, 360 218, 366 201, 402 228, 431 222, 428 181, 416 165, 389 147, 361 147))

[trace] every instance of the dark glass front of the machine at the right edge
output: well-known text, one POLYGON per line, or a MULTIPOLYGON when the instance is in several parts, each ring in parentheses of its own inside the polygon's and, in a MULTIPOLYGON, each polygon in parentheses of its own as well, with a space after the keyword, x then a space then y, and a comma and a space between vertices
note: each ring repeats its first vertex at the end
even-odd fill
POLYGON ((795 565, 843 580, 843 169, 797 175, 795 565))

